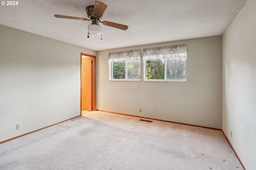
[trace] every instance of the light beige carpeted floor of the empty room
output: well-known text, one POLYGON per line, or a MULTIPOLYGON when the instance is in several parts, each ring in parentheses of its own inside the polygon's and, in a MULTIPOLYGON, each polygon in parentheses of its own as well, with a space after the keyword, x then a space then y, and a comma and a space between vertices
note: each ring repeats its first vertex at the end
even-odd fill
POLYGON ((139 120, 101 111, 85 113, 0 144, 0 169, 243 169, 220 130, 139 120))

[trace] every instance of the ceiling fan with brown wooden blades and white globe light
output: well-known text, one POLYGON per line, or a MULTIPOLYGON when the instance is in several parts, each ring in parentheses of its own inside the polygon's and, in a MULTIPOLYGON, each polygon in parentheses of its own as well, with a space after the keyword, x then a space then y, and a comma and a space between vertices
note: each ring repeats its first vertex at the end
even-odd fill
POLYGON ((106 8, 107 8, 106 4, 103 4, 102 2, 98 2, 98 1, 95 1, 94 6, 87 6, 86 13, 89 20, 86 18, 78 18, 73 16, 63 16, 63 15, 54 15, 54 16, 56 18, 66 18, 66 19, 73 19, 73 20, 84 20, 84 21, 92 20, 92 23, 88 26, 88 38, 89 38, 89 34, 94 34, 94 35, 102 34, 102 27, 99 25, 99 22, 105 26, 110 26, 120 30, 127 30, 128 26, 126 25, 117 24, 109 21, 103 21, 103 22, 100 21, 103 18, 103 13, 106 10, 106 8))

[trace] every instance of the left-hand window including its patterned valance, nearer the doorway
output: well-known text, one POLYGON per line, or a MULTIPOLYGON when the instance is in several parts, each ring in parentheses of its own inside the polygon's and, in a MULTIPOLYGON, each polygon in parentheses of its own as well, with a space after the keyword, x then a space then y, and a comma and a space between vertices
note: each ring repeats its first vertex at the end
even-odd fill
POLYGON ((140 81, 140 49, 108 54, 110 80, 140 81))

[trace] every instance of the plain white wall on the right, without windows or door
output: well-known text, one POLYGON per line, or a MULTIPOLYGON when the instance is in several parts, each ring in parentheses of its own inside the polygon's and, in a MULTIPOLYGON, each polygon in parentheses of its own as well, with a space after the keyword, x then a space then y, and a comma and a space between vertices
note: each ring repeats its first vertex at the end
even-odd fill
POLYGON ((222 129, 246 169, 256 169, 256 0, 247 1, 222 44, 222 129))

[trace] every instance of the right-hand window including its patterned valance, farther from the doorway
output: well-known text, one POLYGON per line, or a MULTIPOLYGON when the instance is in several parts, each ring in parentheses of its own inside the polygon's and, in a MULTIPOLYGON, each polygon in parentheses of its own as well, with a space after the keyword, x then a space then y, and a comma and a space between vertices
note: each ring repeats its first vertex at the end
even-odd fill
POLYGON ((186 81, 187 45, 143 49, 145 81, 186 81))

